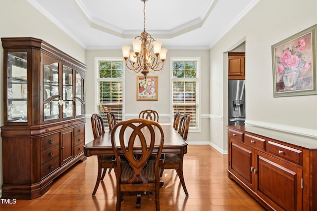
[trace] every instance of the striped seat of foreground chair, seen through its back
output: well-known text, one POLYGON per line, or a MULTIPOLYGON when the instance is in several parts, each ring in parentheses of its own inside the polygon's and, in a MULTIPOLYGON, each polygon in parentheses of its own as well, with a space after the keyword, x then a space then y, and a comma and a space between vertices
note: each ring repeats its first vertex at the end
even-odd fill
MULTIPOLYGON (((133 176, 133 169, 130 167, 130 165, 126 161, 121 161, 121 167, 122 167, 122 173, 120 181, 121 183, 129 183, 129 179, 133 176)), ((148 164, 143 169, 143 174, 145 178, 149 180, 149 183, 155 182, 155 161, 149 160, 148 164)), ((139 177, 136 178, 134 183, 143 183, 139 177)))

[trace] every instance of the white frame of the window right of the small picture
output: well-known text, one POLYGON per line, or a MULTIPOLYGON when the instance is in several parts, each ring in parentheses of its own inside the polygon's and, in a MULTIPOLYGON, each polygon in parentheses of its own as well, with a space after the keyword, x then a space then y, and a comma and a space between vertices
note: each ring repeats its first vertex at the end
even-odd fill
MULTIPOLYGON (((171 89, 171 96, 170 96, 170 114, 171 114, 171 122, 173 122, 173 83, 175 81, 195 81, 196 82, 196 124, 197 127, 189 127, 190 132, 201 132, 201 78, 200 78, 200 66, 201 66, 201 58, 200 57, 170 57, 170 89, 171 89), (174 78, 173 77, 173 62, 174 61, 196 61, 196 78, 174 78)), ((184 114, 181 114, 184 115, 184 114)))

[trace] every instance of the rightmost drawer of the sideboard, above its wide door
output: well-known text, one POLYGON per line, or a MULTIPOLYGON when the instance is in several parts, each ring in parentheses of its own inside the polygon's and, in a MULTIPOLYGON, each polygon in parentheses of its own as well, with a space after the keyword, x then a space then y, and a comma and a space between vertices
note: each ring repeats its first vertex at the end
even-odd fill
POLYGON ((267 152, 280 158, 289 160, 299 165, 303 165, 303 151, 272 141, 268 141, 267 152))

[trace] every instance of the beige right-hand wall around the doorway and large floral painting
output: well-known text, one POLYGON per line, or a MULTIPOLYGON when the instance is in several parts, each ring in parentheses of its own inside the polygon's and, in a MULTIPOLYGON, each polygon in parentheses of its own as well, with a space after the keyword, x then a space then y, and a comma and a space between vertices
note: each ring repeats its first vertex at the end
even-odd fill
POLYGON ((274 98, 271 59, 271 45, 317 24, 316 8, 316 0, 260 0, 211 48, 212 145, 227 150, 226 52, 243 41, 246 123, 317 137, 317 95, 274 98), (216 138, 215 133, 223 137, 216 138))

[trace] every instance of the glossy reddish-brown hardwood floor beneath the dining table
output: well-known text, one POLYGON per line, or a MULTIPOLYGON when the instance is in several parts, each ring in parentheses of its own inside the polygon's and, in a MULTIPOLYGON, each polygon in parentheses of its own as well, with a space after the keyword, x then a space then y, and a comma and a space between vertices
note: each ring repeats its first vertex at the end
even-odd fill
MULTIPOLYGON (((184 177, 189 197, 175 170, 164 170, 160 189, 161 211, 264 211, 265 209, 227 177, 227 155, 209 145, 189 145, 184 156, 184 177)), ((51 189, 33 200, 16 200, 0 204, 1 211, 114 211, 116 203, 115 175, 106 174, 92 196, 97 176, 97 157, 59 176, 51 189)), ((135 208, 136 196, 125 196, 122 211, 154 211, 155 197, 142 196, 141 208, 135 208)))

